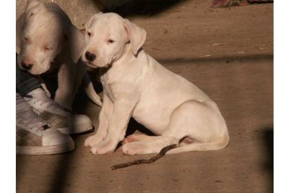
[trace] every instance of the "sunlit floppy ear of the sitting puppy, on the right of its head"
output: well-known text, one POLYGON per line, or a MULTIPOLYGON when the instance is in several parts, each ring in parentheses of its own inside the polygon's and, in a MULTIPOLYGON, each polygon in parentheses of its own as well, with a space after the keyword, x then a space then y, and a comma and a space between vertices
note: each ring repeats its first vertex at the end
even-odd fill
POLYGON ((131 41, 133 54, 137 54, 138 50, 142 47, 146 39, 146 31, 143 28, 135 25, 128 19, 124 19, 124 27, 128 32, 128 37, 131 41))

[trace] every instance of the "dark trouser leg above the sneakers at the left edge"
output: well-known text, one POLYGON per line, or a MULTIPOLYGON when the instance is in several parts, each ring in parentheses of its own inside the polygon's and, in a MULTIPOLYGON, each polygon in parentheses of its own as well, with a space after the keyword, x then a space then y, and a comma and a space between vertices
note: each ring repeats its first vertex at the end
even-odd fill
POLYGON ((29 72, 21 70, 16 62, 16 91, 23 96, 35 88, 41 88, 39 81, 29 72))

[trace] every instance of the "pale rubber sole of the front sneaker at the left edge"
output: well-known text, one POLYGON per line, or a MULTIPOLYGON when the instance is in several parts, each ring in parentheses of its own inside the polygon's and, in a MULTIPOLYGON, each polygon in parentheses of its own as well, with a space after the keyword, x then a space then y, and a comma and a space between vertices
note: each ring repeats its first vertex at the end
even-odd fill
POLYGON ((75 150, 75 143, 73 141, 50 146, 16 146, 16 154, 25 155, 60 154, 72 150, 75 150))

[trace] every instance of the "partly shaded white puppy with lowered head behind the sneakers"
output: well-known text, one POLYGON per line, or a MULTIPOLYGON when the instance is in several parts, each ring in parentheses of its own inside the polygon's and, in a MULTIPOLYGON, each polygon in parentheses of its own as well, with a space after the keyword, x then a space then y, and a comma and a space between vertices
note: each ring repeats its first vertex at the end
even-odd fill
POLYGON ((57 4, 28 1, 25 12, 17 19, 17 63, 34 75, 57 69, 55 101, 68 109, 82 79, 90 99, 101 105, 84 63, 78 60, 83 48, 84 36, 57 4))

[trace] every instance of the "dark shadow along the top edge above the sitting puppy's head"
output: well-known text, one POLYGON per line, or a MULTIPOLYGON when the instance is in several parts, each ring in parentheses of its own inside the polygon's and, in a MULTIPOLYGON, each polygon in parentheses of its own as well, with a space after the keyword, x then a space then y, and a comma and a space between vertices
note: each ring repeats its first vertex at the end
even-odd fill
POLYGON ((133 15, 151 17, 184 1, 188 0, 101 0, 104 6, 100 5, 99 1, 93 2, 103 12, 116 12, 122 17, 133 15))

